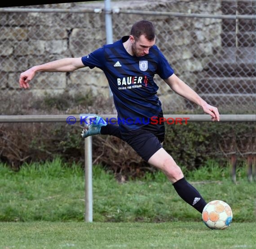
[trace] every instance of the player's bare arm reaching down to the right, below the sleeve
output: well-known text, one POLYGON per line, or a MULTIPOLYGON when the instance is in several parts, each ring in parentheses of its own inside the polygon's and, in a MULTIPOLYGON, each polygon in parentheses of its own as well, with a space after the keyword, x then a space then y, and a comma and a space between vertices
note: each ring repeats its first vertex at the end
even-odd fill
POLYGON ((216 107, 207 104, 190 86, 179 79, 175 74, 172 74, 168 79, 164 80, 174 92, 186 98, 187 100, 193 101, 202 107, 203 111, 210 114, 212 121, 220 121, 220 114, 216 107))

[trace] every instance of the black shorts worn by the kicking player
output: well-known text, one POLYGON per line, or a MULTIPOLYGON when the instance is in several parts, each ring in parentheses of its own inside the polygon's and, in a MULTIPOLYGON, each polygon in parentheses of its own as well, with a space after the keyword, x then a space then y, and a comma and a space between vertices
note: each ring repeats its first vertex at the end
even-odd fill
MULTIPOLYGON (((159 114, 161 117, 163 113, 159 114)), ((159 149, 163 148, 164 124, 147 124, 144 127, 122 133, 122 140, 127 142, 146 162, 159 149)))

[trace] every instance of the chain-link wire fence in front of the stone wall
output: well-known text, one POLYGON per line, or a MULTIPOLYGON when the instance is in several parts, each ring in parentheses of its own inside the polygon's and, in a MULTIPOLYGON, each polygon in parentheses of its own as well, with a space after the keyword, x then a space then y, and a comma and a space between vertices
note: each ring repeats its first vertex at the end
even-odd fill
MULTIPOLYGON (((256 110, 256 7, 248 1, 113 2, 113 40, 129 35, 134 22, 154 23, 156 44, 175 73, 222 114, 256 110), (194 14, 194 15, 193 15, 194 14)), ((46 4, 0 10, 1 95, 27 94, 19 74, 63 57, 81 57, 106 43, 104 2, 46 4), (26 7, 26 9, 24 9, 26 7), (58 8, 58 9, 57 9, 58 8)), ((193 103, 156 75, 159 98, 173 111, 195 110, 193 103)), ((98 70, 40 73, 35 95, 68 91, 108 94, 98 70)))

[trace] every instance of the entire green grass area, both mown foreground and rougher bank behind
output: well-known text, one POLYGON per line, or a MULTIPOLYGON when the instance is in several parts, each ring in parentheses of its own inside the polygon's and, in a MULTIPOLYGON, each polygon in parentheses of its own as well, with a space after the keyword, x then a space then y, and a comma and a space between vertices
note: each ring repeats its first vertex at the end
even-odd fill
POLYGON ((0 249, 256 248, 256 183, 245 168, 237 184, 212 161, 185 174, 206 201, 230 204, 230 227, 207 228, 160 172, 118 183, 94 166, 93 223, 85 223, 81 166, 56 159, 14 172, 0 165, 0 249))

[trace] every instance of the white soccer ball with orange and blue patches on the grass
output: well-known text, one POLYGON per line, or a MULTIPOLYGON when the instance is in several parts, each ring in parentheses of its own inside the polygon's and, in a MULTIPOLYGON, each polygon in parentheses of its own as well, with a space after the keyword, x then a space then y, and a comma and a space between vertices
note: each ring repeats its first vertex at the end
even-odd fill
POLYGON ((227 228, 233 218, 233 213, 225 201, 210 201, 203 208, 202 218, 204 224, 211 229, 227 228))

